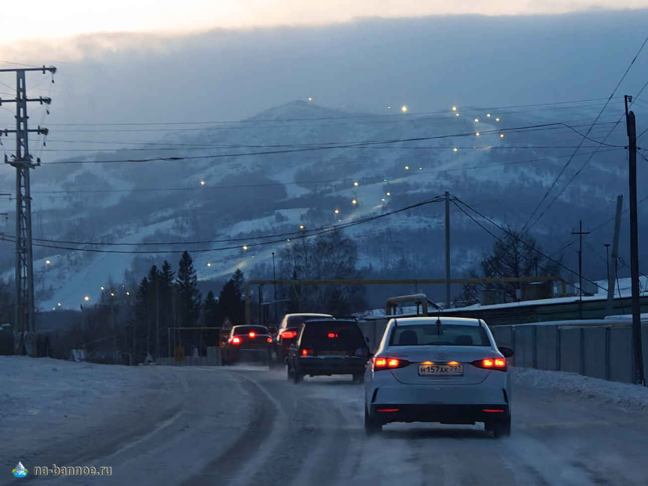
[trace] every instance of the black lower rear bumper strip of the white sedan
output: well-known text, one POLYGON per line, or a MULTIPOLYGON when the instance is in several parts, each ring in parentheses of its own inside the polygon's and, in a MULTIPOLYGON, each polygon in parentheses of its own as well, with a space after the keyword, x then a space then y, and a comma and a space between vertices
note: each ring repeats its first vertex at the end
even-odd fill
POLYGON ((508 421, 511 418, 511 411, 508 405, 502 404, 380 404, 371 406, 370 415, 383 424, 389 422, 474 424, 474 422, 508 421))

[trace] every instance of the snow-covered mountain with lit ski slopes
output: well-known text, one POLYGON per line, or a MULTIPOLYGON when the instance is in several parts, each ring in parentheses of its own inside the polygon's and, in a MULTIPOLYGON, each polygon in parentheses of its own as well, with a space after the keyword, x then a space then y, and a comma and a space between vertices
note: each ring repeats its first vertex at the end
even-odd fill
MULTIPOLYGON (((151 264, 167 259, 175 267, 179 253, 169 250, 190 251, 201 280, 225 277, 236 268, 265 276, 268 264, 272 271, 272 251, 295 242, 288 235, 254 246, 259 240, 252 237, 299 233, 299 225, 309 230, 345 224, 444 191, 498 224, 519 229, 581 142, 573 130, 584 133, 594 121, 602 105, 593 105, 459 107, 426 114, 392 106, 366 114, 294 101, 241 122, 174 127, 161 139, 119 150, 59 160, 46 154, 32 171, 34 238, 40 238, 34 242, 41 245, 34 248, 37 307, 78 308, 84 295, 96 302, 109 278, 132 286, 151 264), (556 122, 573 130, 540 126, 556 122), (202 243, 174 244, 195 241, 202 243), (124 277, 129 269, 133 272, 124 277)), ((589 137, 603 139, 617 111, 606 111, 589 137)), ((624 134, 621 125, 607 143, 623 146, 624 134)), ((70 146, 48 142, 63 150, 70 146)), ((573 158, 540 211, 596 147, 584 141, 579 154, 585 155, 573 158)), ((551 253, 572 241, 579 218, 587 230, 613 216, 616 195, 627 193, 626 156, 623 148, 600 148, 533 227, 543 249, 551 253)), ((5 174, 0 189, 10 192, 13 174, 5 174)), ((344 231, 358 242, 360 266, 440 278, 443 214, 443 203, 432 203, 344 231)), ((14 233, 13 216, 10 212, 7 234, 14 233)), ((454 205, 451 220, 453 276, 460 277, 493 238, 454 205)), ((584 268, 592 277, 604 275, 603 242, 611 241, 611 231, 608 224, 586 238, 592 249, 584 248, 584 268)), ((13 275, 14 252, 11 243, 0 245, 0 271, 7 279, 13 275)), ((571 268, 577 268, 575 249, 564 253, 571 268)))

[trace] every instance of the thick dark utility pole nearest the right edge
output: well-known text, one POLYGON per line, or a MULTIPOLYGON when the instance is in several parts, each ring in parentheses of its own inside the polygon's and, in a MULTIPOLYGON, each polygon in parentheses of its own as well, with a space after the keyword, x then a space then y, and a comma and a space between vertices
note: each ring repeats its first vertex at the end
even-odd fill
POLYGON ((625 95, 625 122, 628 129, 628 160, 630 183, 630 275, 632 279, 632 351, 634 355, 634 384, 643 385, 642 319, 639 304, 639 237, 637 216, 637 132, 634 113, 628 111, 625 95))

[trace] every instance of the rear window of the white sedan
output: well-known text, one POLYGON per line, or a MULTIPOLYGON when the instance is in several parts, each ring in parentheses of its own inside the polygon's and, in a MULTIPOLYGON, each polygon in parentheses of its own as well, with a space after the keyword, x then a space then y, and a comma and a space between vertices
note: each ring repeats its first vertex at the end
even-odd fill
POLYGON ((481 326, 420 324, 391 330, 390 346, 491 346, 481 326))

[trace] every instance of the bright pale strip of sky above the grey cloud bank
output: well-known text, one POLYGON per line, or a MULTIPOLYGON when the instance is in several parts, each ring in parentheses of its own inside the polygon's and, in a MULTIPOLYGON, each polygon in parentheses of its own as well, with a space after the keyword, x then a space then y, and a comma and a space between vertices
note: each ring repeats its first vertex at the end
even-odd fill
POLYGON ((0 19, 0 44, 123 31, 322 25, 354 17, 561 14, 642 8, 646 0, 31 0, 0 19))

